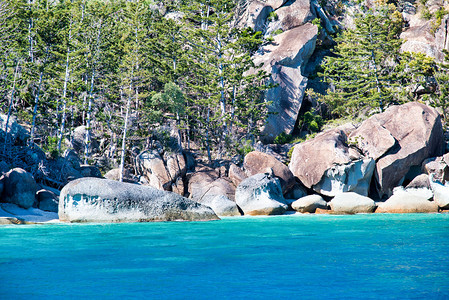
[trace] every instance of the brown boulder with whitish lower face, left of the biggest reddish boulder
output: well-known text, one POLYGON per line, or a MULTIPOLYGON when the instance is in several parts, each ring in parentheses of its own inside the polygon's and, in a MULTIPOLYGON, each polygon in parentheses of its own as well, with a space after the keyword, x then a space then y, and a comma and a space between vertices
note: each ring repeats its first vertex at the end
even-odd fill
POLYGON ((307 188, 327 196, 368 195, 374 160, 348 147, 345 130, 331 129, 295 146, 289 168, 307 188))

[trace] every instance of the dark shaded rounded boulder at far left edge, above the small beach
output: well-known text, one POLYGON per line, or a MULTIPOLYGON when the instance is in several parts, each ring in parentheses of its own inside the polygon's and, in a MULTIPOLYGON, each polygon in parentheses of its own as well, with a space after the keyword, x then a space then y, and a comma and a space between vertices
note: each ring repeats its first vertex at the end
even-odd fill
POLYGON ((33 175, 21 168, 15 168, 3 175, 2 202, 30 208, 35 202, 38 189, 33 175))

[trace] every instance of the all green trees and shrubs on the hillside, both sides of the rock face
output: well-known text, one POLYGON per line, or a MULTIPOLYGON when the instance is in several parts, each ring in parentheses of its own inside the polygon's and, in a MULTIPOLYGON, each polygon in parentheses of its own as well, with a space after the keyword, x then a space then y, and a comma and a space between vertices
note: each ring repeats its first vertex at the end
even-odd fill
MULTIPOLYGON (((53 156, 85 126, 85 163, 106 157, 123 166, 126 151, 169 143, 173 130, 177 145, 194 144, 209 161, 245 153, 267 114, 261 92, 271 87, 251 57, 270 39, 236 26, 238 3, 0 0, 0 112, 30 124, 29 145, 53 156), (102 141, 98 154, 93 135, 102 141)), ((359 5, 354 26, 334 37, 320 73, 329 90, 318 100, 331 118, 419 100, 447 122, 449 65, 401 53, 402 16, 376 3, 359 5)), ((298 123, 316 133, 324 120, 311 111, 298 123)), ((282 134, 275 142, 291 140, 282 134)))

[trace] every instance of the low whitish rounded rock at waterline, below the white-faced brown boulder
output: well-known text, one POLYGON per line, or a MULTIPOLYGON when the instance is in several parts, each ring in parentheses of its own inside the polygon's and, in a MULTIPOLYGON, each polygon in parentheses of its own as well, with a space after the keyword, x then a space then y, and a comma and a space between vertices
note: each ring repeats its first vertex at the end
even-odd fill
POLYGON ((353 192, 336 195, 329 205, 335 214, 372 213, 376 209, 372 199, 353 192))

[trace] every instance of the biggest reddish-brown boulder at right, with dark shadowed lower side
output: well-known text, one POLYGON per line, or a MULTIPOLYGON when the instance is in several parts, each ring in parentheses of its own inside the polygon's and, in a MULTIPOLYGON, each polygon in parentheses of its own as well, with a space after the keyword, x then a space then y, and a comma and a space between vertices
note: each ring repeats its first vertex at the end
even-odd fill
POLYGON ((351 133, 349 140, 357 143, 365 155, 377 159, 379 197, 391 195, 412 168, 420 168, 426 158, 440 156, 444 150, 440 115, 417 102, 391 106, 372 116, 351 133), (372 132, 380 132, 380 137, 372 132))

